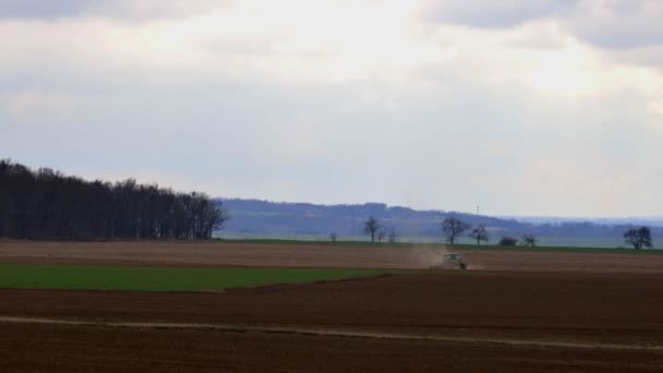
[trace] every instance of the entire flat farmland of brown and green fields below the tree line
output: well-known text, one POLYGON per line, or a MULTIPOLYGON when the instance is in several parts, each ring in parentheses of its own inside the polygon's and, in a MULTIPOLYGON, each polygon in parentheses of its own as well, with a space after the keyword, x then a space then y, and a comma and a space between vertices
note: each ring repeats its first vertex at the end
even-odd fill
POLYGON ((425 270, 444 246, 5 241, 0 359, 10 372, 663 369, 663 255, 454 251, 473 270, 425 270), (64 273, 89 286, 159 270, 158 288, 113 289, 155 291, 63 290, 64 273), (7 282, 22 276, 48 281, 7 282))

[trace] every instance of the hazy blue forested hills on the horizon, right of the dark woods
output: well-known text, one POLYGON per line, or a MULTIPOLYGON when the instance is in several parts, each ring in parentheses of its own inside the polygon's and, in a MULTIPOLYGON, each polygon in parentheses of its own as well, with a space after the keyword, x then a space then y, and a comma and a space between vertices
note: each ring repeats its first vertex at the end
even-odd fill
MULTIPOLYGON (((557 221, 546 224, 525 222, 516 219, 483 215, 445 212, 415 210, 409 207, 387 206, 383 203, 358 205, 315 205, 310 203, 277 203, 258 200, 217 200, 230 212, 232 220, 227 232, 274 234, 329 234, 363 236, 369 216, 381 220, 387 230, 400 237, 442 237, 441 222, 447 217, 457 217, 472 226, 489 228, 493 241, 499 237, 603 237, 620 239, 632 225, 594 224, 591 221, 557 221)), ((663 236, 663 228, 652 227, 654 236, 663 236)))

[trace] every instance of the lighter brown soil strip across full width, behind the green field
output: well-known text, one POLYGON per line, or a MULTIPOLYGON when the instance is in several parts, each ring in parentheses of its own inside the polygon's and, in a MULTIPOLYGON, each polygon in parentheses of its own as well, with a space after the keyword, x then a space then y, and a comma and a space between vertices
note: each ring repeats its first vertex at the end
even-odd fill
MULTIPOLYGON (((0 240, 0 263, 423 269, 437 264, 446 251, 445 248, 430 246, 0 240)), ((463 255, 470 269, 663 274, 663 255, 457 251, 463 255)))

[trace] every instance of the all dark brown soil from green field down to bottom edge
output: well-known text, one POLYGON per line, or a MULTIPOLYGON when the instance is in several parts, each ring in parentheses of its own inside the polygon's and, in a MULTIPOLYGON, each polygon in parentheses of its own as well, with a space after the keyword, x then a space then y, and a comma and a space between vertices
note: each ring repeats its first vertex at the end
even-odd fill
POLYGON ((656 371, 662 350, 627 348, 663 346, 662 281, 661 275, 447 272, 225 293, 0 290, 4 316, 286 329, 3 322, 0 353, 17 371, 57 361, 60 371, 656 371), (292 329, 421 338, 286 333, 292 329), (442 340, 425 339, 435 336, 442 340))

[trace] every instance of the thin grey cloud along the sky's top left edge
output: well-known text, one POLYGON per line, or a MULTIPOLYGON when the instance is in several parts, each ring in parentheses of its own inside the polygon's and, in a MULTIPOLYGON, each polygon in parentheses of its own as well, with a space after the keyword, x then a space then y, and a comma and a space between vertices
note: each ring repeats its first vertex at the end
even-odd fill
POLYGON ((3 0, 0 2, 0 20, 180 17, 213 11, 228 3, 222 0, 3 0))

